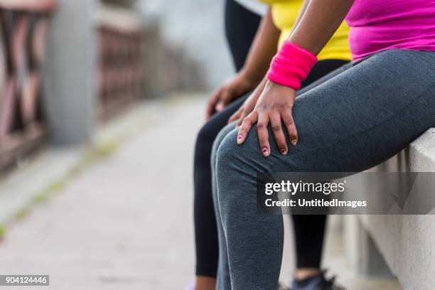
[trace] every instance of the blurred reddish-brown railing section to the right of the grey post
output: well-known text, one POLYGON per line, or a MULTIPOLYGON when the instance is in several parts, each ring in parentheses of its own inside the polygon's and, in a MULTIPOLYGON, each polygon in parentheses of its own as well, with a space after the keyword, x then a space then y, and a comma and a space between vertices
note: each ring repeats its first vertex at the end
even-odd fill
POLYGON ((100 118, 107 119, 144 95, 144 28, 135 14, 108 8, 97 27, 100 118))

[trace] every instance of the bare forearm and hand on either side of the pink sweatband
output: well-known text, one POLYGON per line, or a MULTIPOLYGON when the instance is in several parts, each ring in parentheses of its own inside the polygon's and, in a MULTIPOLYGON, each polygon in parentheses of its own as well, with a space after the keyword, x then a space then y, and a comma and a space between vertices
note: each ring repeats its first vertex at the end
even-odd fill
MULTIPOLYGON (((353 0, 306 0, 306 10, 289 41, 317 55, 343 22, 352 4, 353 0)), ((295 98, 294 89, 268 80, 254 110, 242 121, 237 143, 243 143, 252 125, 257 123, 259 148, 264 156, 269 156, 267 125, 270 123, 279 151, 287 154, 289 149, 281 122, 289 132, 290 143, 296 145, 298 134, 292 116, 295 98)))

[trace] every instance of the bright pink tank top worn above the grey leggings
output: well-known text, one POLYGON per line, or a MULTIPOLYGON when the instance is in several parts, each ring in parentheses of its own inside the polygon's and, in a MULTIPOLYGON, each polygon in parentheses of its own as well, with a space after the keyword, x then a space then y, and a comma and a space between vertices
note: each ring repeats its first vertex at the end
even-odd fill
POLYGON ((435 51, 435 0, 355 0, 346 21, 354 60, 393 48, 435 51))

